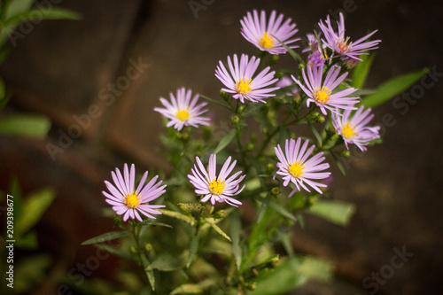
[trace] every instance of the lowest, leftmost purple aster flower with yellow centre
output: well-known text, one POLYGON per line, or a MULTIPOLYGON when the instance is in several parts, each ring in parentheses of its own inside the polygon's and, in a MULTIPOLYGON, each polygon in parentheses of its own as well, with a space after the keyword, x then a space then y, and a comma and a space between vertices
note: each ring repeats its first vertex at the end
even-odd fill
POLYGON ((152 219, 156 219, 152 214, 161 214, 155 209, 162 208, 164 205, 149 204, 149 202, 159 198, 166 191, 166 184, 160 186, 162 181, 157 182, 158 175, 144 186, 146 177, 148 177, 148 172, 146 171, 137 188, 135 186, 136 168, 134 164, 131 165, 130 172, 128 165, 125 164, 123 169, 124 177, 118 168, 115 168, 115 173, 111 172, 111 175, 113 176, 114 184, 105 181, 109 192, 102 192, 105 195, 106 203, 113 206, 113 211, 118 215, 123 215, 123 221, 127 221, 128 218, 143 221, 139 213, 152 219))

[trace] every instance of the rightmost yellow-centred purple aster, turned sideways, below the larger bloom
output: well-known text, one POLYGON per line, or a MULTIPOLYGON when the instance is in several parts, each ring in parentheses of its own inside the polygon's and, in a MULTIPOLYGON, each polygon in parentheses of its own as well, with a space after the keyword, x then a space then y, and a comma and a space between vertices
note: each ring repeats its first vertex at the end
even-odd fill
POLYGON ((338 134, 343 137, 348 150, 348 144, 355 144, 361 151, 366 151, 365 145, 380 137, 378 135, 379 126, 367 126, 369 121, 374 118, 374 114, 369 114, 370 111, 370 108, 364 110, 364 106, 361 105, 354 114, 350 110, 346 110, 343 116, 335 113, 332 115, 332 124, 338 134))

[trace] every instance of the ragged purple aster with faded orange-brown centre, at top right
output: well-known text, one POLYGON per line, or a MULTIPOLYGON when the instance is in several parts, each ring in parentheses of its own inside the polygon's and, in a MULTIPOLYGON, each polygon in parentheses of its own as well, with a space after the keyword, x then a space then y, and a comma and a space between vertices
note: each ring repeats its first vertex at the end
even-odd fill
POLYGON ((356 60, 361 60, 358 58, 361 54, 368 54, 368 52, 364 52, 366 50, 375 50, 378 48, 378 43, 381 40, 374 40, 363 42, 367 40, 371 35, 374 35, 377 30, 354 43, 349 41, 349 37, 345 36, 345 19, 343 17, 343 13, 340 12, 340 20, 337 22, 338 25, 338 33, 334 31, 330 23, 330 16, 328 15, 326 18, 326 24, 323 23, 323 20, 320 20, 318 26, 322 29, 324 38, 323 43, 328 46, 331 50, 338 53, 339 56, 344 58, 353 58, 356 60))

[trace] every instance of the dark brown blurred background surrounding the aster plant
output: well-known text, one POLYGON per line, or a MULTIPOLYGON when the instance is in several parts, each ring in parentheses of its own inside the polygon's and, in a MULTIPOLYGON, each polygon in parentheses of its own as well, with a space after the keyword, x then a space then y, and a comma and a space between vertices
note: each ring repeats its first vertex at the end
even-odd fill
MULTIPOLYGON (((334 282, 307 283, 293 294, 369 294, 376 288, 365 278, 380 272, 377 294, 443 294, 442 1, 45 2, 79 12, 82 20, 18 27, 20 37, 10 40, 10 57, 0 67, 12 92, 4 113, 43 113, 52 122, 46 140, 0 136, 0 190, 9 191, 17 177, 24 195, 44 187, 56 191, 35 228, 38 252, 52 260, 31 294, 64 294, 60 282, 82 284, 81 273, 113 280, 113 257, 79 270, 97 251, 82 241, 112 230, 112 221, 101 217, 104 180, 125 162, 167 168, 158 151, 164 128, 152 108, 182 86, 218 97, 218 60, 256 53, 239 23, 253 9, 283 12, 300 37, 338 12, 346 15, 352 40, 378 29, 382 43, 367 88, 430 69, 375 111, 384 144, 350 158, 346 176, 334 174, 333 198, 357 208, 350 225, 307 217, 305 229, 293 229, 299 253, 329 258, 336 268, 334 282), (410 254, 401 267, 389 267, 400 261, 392 262, 398 252, 410 254)), ((291 58, 281 63, 290 67, 291 58)))

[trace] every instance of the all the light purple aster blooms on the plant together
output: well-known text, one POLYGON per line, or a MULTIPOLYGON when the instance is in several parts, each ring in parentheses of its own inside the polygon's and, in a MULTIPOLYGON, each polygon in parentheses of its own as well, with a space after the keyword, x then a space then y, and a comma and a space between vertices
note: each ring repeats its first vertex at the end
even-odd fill
MULTIPOLYGON (((318 23, 322 31, 319 35, 307 35, 309 45, 303 52, 308 52, 309 56, 299 79, 291 76, 291 80, 284 76, 279 80, 270 66, 258 70, 260 58, 250 58, 245 54, 237 57, 234 54, 227 58, 227 64, 219 61, 216 66, 215 76, 224 85, 221 90, 242 104, 266 104, 269 98, 276 96, 276 89, 292 86, 286 92, 287 96, 299 95, 300 90, 303 91, 307 107, 315 104, 324 115, 330 113, 332 124, 338 135, 342 136, 346 148, 348 144, 356 144, 361 151, 365 151, 366 145, 378 138, 379 128, 368 126, 374 115, 370 114, 370 109, 356 106, 360 102, 359 97, 353 96, 357 89, 339 86, 348 75, 344 69, 349 70, 361 62, 360 56, 368 54, 368 50, 377 49, 380 40, 368 41, 377 32, 374 31, 354 43, 351 42, 345 35, 345 21, 341 13, 339 18, 338 31, 333 28, 330 16, 327 16, 324 22, 320 20, 318 23)), ((277 15, 273 11, 267 19, 264 11, 260 14, 257 11, 247 12, 240 24, 241 34, 263 53, 284 54, 288 49, 299 47, 295 44, 300 40, 295 37, 298 33, 296 24, 291 19, 284 19, 283 14, 277 15)), ((198 128, 198 125, 209 125, 210 119, 205 116, 206 103, 198 104, 198 94, 192 97, 190 89, 178 89, 176 96, 171 93, 170 101, 163 97, 159 100, 164 107, 156 107, 154 110, 167 117, 167 127, 180 131, 185 126, 198 128)), ((330 176, 330 172, 324 171, 330 166, 323 162, 323 152, 311 155, 314 149, 315 145, 309 146, 308 140, 302 143, 300 138, 287 139, 284 151, 279 144, 275 147, 276 158, 279 160, 276 163, 276 175, 282 176, 284 186, 288 186, 290 182, 295 185, 289 197, 301 189, 310 191, 312 188, 322 193, 320 188, 326 187, 326 184, 319 181, 330 176)), ((210 201, 212 205, 225 202, 230 206, 242 204, 234 197, 244 190, 245 184, 242 186, 240 182, 245 175, 241 171, 231 175, 236 164, 237 161, 229 157, 217 174, 215 154, 210 155, 207 166, 196 158, 196 164, 188 178, 195 187, 195 193, 202 196, 201 202, 210 201)), ((132 165, 129 171, 125 164, 123 175, 118 168, 112 173, 114 184, 105 182, 109 190, 103 191, 106 202, 113 206, 117 214, 123 215, 123 221, 128 218, 142 221, 140 213, 155 219, 153 215, 159 214, 158 209, 164 207, 149 203, 166 191, 166 185, 161 185, 161 181, 157 182, 158 176, 144 185, 147 175, 145 172, 136 188, 135 167, 132 165)))

